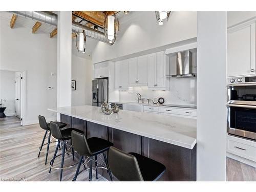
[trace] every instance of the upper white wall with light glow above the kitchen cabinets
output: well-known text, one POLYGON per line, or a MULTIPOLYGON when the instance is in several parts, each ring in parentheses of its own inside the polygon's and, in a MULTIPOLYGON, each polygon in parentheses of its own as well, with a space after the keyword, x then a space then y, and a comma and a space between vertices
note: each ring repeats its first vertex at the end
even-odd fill
MULTIPOLYGON (((158 48, 197 37, 197 12, 173 11, 168 22, 159 26, 154 11, 133 11, 120 19, 116 42, 98 42, 93 63, 158 48)), ((160 50, 158 50, 160 51, 160 50)))

